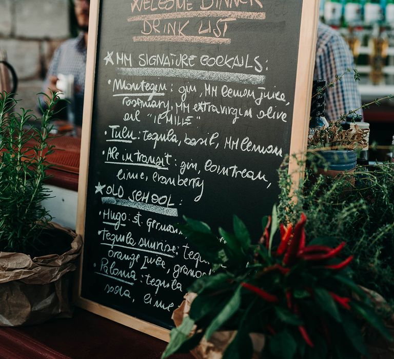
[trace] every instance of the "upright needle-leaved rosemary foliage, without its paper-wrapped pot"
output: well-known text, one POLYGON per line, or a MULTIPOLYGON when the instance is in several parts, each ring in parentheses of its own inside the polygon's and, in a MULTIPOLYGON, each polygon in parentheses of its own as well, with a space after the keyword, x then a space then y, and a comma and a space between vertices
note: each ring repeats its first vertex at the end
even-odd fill
POLYGON ((53 152, 48 141, 57 101, 53 94, 48 110, 37 119, 30 110, 13 112, 17 100, 0 93, 0 251, 33 250, 51 220, 41 202, 50 195, 44 181, 50 167, 46 156, 53 152), (37 126, 30 125, 32 121, 37 126))

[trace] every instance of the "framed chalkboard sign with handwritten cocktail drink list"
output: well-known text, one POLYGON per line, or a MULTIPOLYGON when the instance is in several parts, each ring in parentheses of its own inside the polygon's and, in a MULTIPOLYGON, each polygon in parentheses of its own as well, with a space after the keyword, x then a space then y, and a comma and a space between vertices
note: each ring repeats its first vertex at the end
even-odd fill
POLYGON ((91 1, 77 303, 168 339, 208 264, 186 215, 257 239, 305 148, 318 1, 91 1))

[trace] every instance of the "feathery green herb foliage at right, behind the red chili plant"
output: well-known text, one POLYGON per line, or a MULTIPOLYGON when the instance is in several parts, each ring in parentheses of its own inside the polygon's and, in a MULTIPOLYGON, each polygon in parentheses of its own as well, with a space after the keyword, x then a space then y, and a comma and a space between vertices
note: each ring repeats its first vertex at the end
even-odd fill
POLYGON ((305 213, 307 243, 322 233, 334 244, 346 241, 345 253, 354 256, 354 282, 380 293, 394 308, 394 164, 331 178, 315 172, 315 159, 309 152, 305 176, 293 192, 297 201, 290 195, 287 168, 280 169, 280 220, 291 223, 305 213))

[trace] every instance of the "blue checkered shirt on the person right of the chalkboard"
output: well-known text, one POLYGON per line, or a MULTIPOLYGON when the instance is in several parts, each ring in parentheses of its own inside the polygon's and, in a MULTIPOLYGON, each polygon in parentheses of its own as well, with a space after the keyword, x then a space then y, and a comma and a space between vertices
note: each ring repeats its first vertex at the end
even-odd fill
MULTIPOLYGON (((343 37, 336 30, 319 23, 313 78, 332 82, 337 74, 342 75, 347 68, 353 69, 353 67, 353 55, 343 37)), ((325 101, 327 121, 334 121, 361 106, 358 83, 353 75, 353 71, 348 72, 341 81, 336 82, 334 87, 327 88, 325 101)), ((362 110, 357 113, 362 115, 362 110)))

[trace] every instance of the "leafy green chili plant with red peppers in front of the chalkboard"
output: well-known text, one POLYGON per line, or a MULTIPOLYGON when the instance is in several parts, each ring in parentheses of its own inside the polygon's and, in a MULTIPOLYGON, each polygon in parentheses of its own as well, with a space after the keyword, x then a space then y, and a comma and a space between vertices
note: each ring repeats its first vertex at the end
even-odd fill
POLYGON ((163 358, 186 352, 215 331, 237 334, 224 359, 246 359, 253 354, 249 333, 263 333, 261 357, 358 358, 368 355, 363 325, 390 335, 368 297, 354 283, 331 238, 305 243, 306 217, 295 225, 278 224, 277 211, 262 221, 263 235, 252 243, 244 223, 234 216, 234 233, 219 229, 214 235, 203 222, 185 218, 181 230, 212 265, 213 274, 196 280, 189 291, 198 295, 188 316, 171 331, 163 358))

